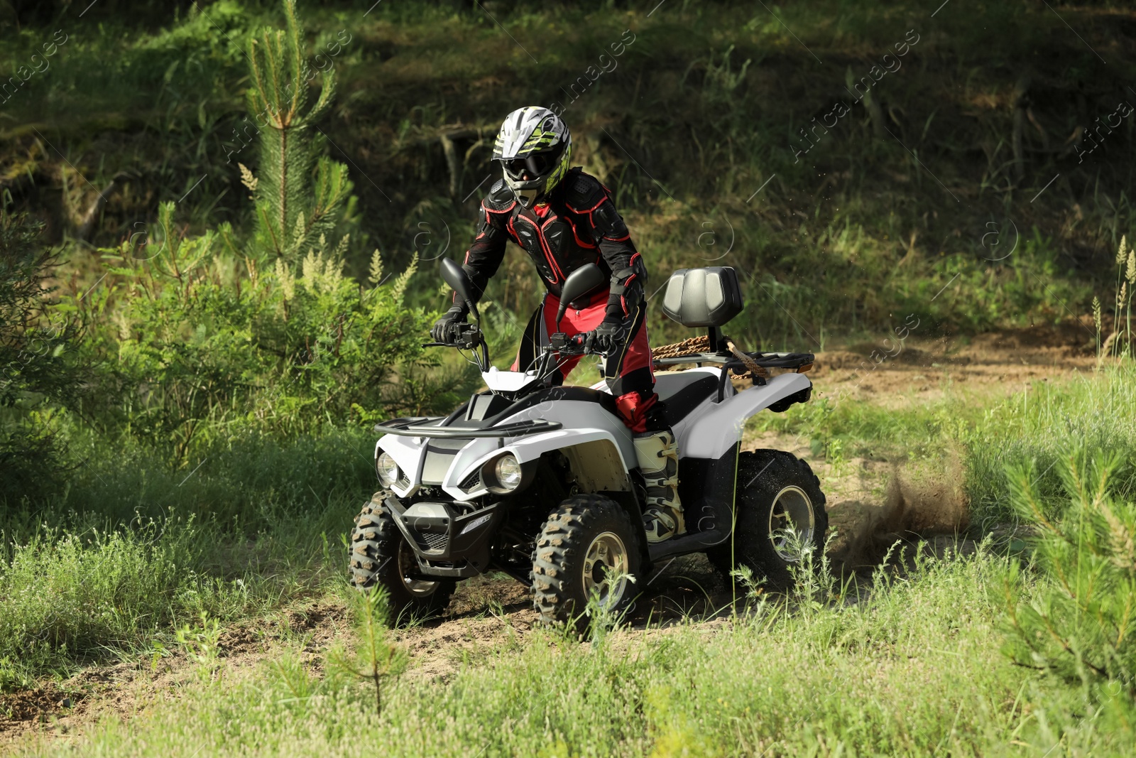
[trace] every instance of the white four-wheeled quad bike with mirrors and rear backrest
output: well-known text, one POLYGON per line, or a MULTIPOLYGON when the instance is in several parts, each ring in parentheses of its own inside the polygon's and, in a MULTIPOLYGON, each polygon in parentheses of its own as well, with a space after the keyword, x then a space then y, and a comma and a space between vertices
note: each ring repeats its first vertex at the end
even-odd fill
MULTIPOLYGON (((469 305, 458 349, 477 358, 488 388, 449 416, 398 418, 375 427, 375 467, 383 490, 356 519, 353 584, 385 588, 402 617, 440 613, 457 582, 503 572, 531 585, 548 623, 571 623, 590 598, 621 611, 673 557, 705 552, 725 572, 746 566, 774 589, 792 583, 801 547, 820 551, 828 516, 809 465, 778 450, 740 452, 745 420, 805 402, 809 353, 742 353, 720 327, 742 310, 733 268, 675 272, 663 311, 687 327, 708 327, 694 355, 657 358, 655 390, 678 441, 679 495, 687 532, 649 544, 644 488, 632 433, 601 382, 557 386, 560 356, 582 340, 545 345, 528 370, 498 370, 469 297, 471 284, 450 259, 443 278, 469 305), (568 347, 565 347, 567 343, 568 347), (695 365, 685 370, 668 366, 695 365), (766 378, 770 367, 795 369, 766 378), (735 391, 730 373, 753 386, 735 391), (795 539, 794 534, 795 533, 795 539)), ((595 265, 563 283, 565 308, 607 284, 595 265)), ((442 343, 431 343, 427 347, 442 343)))

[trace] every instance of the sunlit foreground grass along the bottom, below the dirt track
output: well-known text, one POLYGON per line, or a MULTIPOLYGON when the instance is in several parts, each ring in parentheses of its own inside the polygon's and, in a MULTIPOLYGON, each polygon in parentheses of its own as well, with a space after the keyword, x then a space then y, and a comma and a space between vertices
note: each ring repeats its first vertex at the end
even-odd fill
MULTIPOLYGON (((987 588, 1005 568, 986 552, 925 556, 859 602, 808 614, 759 603, 717 631, 619 632, 591 645, 526 633, 449 681, 389 686, 382 716, 366 685, 266 665, 224 688, 191 685, 130 722, 108 718, 75 747, 122 756, 1121 755, 1134 739, 1130 702, 1086 703, 999 651, 1001 607, 987 588)), ((43 742, 26 755, 73 749, 43 742)))

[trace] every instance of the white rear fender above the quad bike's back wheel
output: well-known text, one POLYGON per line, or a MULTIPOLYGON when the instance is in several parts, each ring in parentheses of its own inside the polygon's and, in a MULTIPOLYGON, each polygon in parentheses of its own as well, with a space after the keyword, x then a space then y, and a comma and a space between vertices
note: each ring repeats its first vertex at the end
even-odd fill
POLYGON ((780 374, 765 386, 750 388, 721 402, 705 403, 705 410, 684 430, 683 457, 720 458, 742 439, 750 416, 810 386, 812 382, 804 374, 780 374))

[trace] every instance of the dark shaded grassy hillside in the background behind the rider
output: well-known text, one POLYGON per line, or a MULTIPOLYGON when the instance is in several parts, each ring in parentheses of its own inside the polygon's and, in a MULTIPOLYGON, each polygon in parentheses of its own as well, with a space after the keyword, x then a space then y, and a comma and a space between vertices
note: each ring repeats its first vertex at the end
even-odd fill
MULTIPOLYGON (((490 138, 527 102, 562 108, 655 281, 701 260, 744 272, 735 328, 761 344, 896 313, 954 331, 1083 316, 1131 224, 1119 103, 1136 102, 1136 18, 1120 6, 362 5, 309 24, 314 73, 340 77, 319 131, 359 195, 357 273, 376 247, 395 264, 460 253, 490 138)), ((242 40, 272 18, 231 0, 137 25, 90 9, 3 105, 0 182, 51 241, 142 239, 161 200, 191 230, 247 223, 242 40)), ((10 35, 8 70, 41 28, 10 35)), ((519 256, 499 278, 527 313, 519 256)))

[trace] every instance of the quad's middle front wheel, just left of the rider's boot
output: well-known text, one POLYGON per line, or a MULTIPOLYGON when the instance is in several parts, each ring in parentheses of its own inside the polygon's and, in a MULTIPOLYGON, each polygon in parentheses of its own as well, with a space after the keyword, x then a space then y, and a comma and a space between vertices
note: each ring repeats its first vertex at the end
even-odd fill
POLYGON ((634 597, 638 533, 615 500, 580 494, 560 503, 541 527, 533 553, 533 599, 541 620, 571 623, 599 607, 619 613, 634 597))

